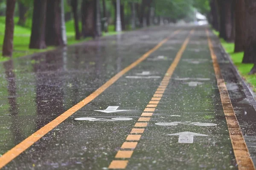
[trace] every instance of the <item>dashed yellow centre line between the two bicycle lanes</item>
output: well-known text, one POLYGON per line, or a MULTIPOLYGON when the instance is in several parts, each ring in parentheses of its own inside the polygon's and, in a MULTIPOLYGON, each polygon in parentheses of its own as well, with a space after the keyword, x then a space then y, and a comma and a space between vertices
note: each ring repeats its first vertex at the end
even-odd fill
MULTIPOLYGON (((148 105, 144 109, 143 113, 141 114, 141 117, 138 119, 138 121, 135 123, 134 129, 131 130, 131 134, 140 134, 139 136, 136 135, 131 135, 129 134, 126 138, 126 141, 122 144, 120 150, 116 153, 115 158, 121 158, 121 159, 127 159, 131 158, 133 150, 137 147, 138 141, 140 141, 141 134, 144 132, 144 128, 148 125, 148 122, 150 121, 151 116, 153 115, 153 112, 155 108, 157 107, 159 101, 163 97, 163 93, 169 84, 169 81, 171 79, 172 73, 174 72, 174 69, 176 68, 177 64, 180 61, 180 58, 183 54, 183 52, 186 49, 187 44, 189 43, 190 36, 194 33, 194 30, 192 30, 189 33, 189 36, 186 38, 184 43, 182 44, 179 52, 177 53, 175 60, 167 70, 165 76, 163 77, 163 80, 158 86, 156 92, 153 95, 153 98, 151 98, 151 101, 148 102, 148 105), (141 129, 139 127, 142 127, 141 129), (131 142, 131 141, 136 141, 136 142, 131 142), (126 149, 126 150, 122 150, 126 149), (127 149, 130 152, 127 152, 127 149)), ((111 161, 111 164, 108 166, 108 169, 125 169, 128 164, 128 160, 113 160, 111 161)))

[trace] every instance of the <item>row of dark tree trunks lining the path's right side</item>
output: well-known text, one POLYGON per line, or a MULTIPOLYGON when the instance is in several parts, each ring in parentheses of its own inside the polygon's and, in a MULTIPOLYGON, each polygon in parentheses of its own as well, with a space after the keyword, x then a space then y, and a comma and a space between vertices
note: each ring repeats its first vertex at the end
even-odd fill
POLYGON ((256 73, 256 0, 211 0, 211 24, 219 37, 235 43, 234 52, 244 52, 242 63, 253 63, 256 73))

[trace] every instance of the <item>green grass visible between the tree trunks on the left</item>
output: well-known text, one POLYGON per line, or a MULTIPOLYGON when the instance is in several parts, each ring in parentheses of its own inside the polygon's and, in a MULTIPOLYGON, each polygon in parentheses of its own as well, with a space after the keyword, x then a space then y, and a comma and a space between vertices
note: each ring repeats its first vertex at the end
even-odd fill
MULTIPOLYGON (((14 18, 14 22, 18 22, 18 17, 14 18)), ((15 24, 14 29, 14 39, 13 39, 13 58, 22 57, 25 55, 31 55, 37 52, 44 52, 48 50, 55 49, 54 46, 49 46, 47 49, 29 49, 29 41, 30 41, 30 33, 31 33, 31 24, 32 20, 27 19, 25 26, 18 26, 15 24)), ((81 22, 79 23, 79 28, 81 28, 81 22)), ((2 52, 3 47, 3 39, 4 39, 4 31, 5 31, 5 17, 0 17, 0 50, 2 52)), ((74 28, 74 21, 70 20, 66 22, 66 31, 67 31, 67 44, 72 45, 75 43, 79 43, 86 40, 91 40, 92 38, 85 38, 81 40, 75 39, 75 28, 74 28)), ((81 30, 80 30, 81 31, 81 30)), ((109 32, 103 33, 103 36, 108 35, 115 35, 116 32, 114 31, 114 26, 109 25, 109 32)), ((0 62, 7 61, 10 58, 3 57, 0 55, 0 62)))

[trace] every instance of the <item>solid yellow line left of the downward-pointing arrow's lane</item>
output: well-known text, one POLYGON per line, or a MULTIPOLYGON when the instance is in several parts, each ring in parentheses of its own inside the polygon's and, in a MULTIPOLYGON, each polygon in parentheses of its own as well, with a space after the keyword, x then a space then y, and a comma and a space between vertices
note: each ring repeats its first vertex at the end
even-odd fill
POLYGON ((10 161, 12 161, 14 158, 19 156, 21 153, 23 153, 27 148, 29 148, 32 144, 34 144, 36 141, 38 141, 40 138, 42 138, 44 135, 46 135, 49 131, 51 131, 53 128, 58 126, 61 122, 66 120, 68 117, 73 115, 76 111, 81 109, 81 107, 84 107, 86 104, 88 104, 90 101, 92 101, 94 98, 96 98, 98 95, 100 95, 102 92, 105 91, 109 86, 111 86, 113 83, 115 83, 120 77, 122 77, 126 72, 133 69, 135 66, 137 66, 139 63, 144 61, 148 56, 159 49, 160 46, 162 46, 164 43, 166 43, 171 37, 178 34, 180 30, 177 30, 173 32, 169 37, 162 40, 160 43, 158 43, 153 49, 146 52, 143 56, 141 56, 137 61, 134 63, 131 63, 129 66, 127 66, 125 69, 114 75, 110 80, 108 80, 105 84, 103 84, 99 89, 96 89, 95 92, 90 94, 87 98, 84 98, 84 100, 80 101, 75 106, 68 109, 66 112, 59 115, 57 118, 46 124, 44 127, 42 127, 40 130, 36 131, 32 135, 30 135, 28 138, 26 138, 24 141, 17 144, 15 147, 13 147, 11 150, 3 154, 3 156, 0 157, 0 169, 4 167, 6 164, 8 164, 10 161))

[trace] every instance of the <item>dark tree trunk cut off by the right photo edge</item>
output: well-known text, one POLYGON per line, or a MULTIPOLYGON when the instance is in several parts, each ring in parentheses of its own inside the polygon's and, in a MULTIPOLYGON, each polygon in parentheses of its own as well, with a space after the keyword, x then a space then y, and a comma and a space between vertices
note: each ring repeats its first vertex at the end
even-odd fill
MULTIPOLYGON (((256 64, 256 0, 245 0, 245 41, 244 58, 242 63, 256 64)), ((256 73, 256 66, 253 67, 250 74, 256 73)))

